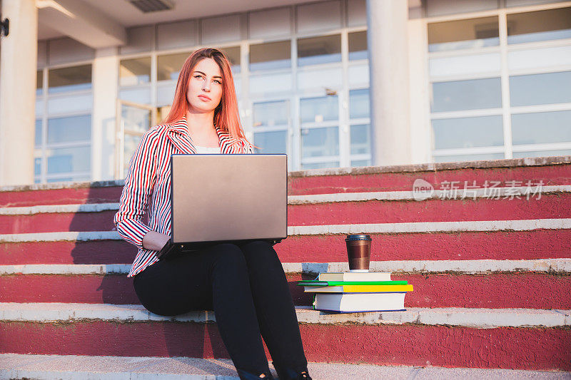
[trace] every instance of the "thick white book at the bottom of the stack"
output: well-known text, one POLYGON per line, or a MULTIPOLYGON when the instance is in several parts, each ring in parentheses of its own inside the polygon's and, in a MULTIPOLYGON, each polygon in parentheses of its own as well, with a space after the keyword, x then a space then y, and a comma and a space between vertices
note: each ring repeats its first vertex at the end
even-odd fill
POLYGON ((405 310, 406 293, 315 293, 316 310, 327 312, 393 312, 405 310))

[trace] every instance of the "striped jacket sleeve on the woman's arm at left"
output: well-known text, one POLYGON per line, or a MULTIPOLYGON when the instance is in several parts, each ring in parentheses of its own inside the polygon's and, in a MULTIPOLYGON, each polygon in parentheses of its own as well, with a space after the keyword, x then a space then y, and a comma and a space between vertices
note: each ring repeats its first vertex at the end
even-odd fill
POLYGON ((118 234, 139 249, 143 249, 143 237, 151 230, 151 227, 143 222, 143 217, 147 212, 148 198, 156 183, 156 141, 157 139, 151 136, 151 131, 143 135, 129 161, 119 210, 113 217, 118 234))

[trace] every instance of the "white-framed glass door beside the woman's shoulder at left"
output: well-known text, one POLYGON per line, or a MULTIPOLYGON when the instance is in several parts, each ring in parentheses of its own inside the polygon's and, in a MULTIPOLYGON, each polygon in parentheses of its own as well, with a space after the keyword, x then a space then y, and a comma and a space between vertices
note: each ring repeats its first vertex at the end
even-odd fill
POLYGON ((147 130, 156 125, 157 111, 153 106, 117 101, 115 179, 125 178, 129 160, 147 130))

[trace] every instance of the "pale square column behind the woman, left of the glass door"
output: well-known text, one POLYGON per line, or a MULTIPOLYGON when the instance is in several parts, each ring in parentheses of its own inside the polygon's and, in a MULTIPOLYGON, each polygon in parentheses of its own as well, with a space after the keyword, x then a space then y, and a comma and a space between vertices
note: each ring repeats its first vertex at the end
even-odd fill
POLYGON ((115 168, 115 119, 119 82, 118 48, 95 51, 94 111, 91 123, 91 180, 113 180, 115 168))

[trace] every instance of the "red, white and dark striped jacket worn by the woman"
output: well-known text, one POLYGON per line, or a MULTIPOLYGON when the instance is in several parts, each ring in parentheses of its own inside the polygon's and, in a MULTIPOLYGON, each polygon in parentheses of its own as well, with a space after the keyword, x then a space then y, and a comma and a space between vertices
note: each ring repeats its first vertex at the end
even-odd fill
MULTIPOLYGON (((233 138, 216 128, 222 154, 253 153, 244 138, 233 138)), ((113 217, 118 234, 138 247, 127 277, 158 261, 156 250, 143 248, 143 237, 153 230, 171 235, 171 155, 194 154, 196 148, 188 134, 186 116, 170 124, 148 130, 129 161, 119 210, 113 217), (148 215, 148 223, 143 217, 148 215)))

